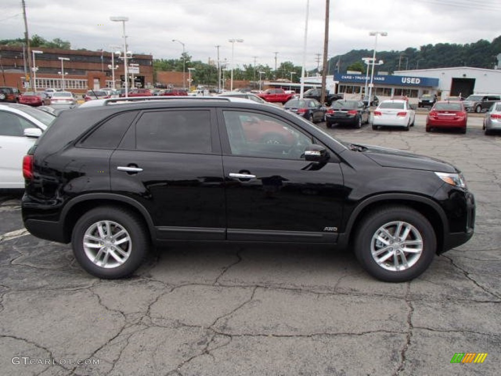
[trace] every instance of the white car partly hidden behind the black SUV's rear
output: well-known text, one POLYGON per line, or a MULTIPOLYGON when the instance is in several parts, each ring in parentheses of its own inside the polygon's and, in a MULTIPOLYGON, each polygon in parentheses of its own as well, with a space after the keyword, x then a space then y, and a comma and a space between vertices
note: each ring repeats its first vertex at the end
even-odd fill
POLYGON ((0 189, 24 189, 23 157, 55 119, 24 104, 0 104, 0 189))

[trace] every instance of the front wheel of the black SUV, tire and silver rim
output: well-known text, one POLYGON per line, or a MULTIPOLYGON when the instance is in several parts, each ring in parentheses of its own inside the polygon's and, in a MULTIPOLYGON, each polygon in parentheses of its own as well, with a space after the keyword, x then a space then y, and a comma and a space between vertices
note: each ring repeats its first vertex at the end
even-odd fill
POLYGON ((421 275, 435 256, 433 227, 411 208, 390 206, 375 210, 366 215, 357 228, 355 255, 362 267, 381 281, 410 281, 421 275), (399 226, 400 235, 407 234, 405 239, 395 236, 399 226), (405 252, 404 247, 412 252, 405 252), (410 265, 404 266, 404 260, 410 265))

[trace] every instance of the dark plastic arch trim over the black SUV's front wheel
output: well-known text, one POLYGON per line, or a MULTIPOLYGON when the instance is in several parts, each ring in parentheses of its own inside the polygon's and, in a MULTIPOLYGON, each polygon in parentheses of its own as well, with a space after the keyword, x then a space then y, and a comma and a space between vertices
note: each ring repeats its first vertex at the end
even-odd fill
POLYGON ((447 218, 442 208, 431 199, 407 194, 387 194, 368 198, 357 205, 346 225, 345 241, 353 245, 357 228, 365 216, 379 208, 388 206, 405 206, 423 215, 433 227, 436 234, 437 254, 444 246, 444 234, 448 232, 447 218))

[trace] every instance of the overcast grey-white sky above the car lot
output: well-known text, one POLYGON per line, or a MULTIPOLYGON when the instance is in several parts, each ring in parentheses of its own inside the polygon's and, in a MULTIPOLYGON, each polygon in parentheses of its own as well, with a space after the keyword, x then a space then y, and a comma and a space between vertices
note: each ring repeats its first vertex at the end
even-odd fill
MULTIPOLYGON (((61 38, 72 49, 112 51, 122 44, 126 16, 129 50, 154 59, 176 59, 186 52, 193 60, 217 57, 235 64, 275 67, 301 65, 308 0, 26 0, 28 31, 51 41, 61 38)), ((1 0, 0 39, 24 36, 21 0, 1 0)), ((353 49, 374 48, 370 31, 385 31, 377 50, 400 51, 425 44, 467 44, 501 35, 499 0, 331 0, 329 57, 353 49)), ((310 0, 306 67, 317 66, 323 53, 325 0, 310 0)), ((501 53, 501 51, 499 51, 501 53)))

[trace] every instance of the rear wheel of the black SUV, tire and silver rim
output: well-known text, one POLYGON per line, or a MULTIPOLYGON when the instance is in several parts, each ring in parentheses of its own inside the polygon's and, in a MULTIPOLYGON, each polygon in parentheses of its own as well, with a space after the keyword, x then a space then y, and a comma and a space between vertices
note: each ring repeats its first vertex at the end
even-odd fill
POLYGON ((149 248, 143 222, 132 212, 114 207, 100 207, 85 213, 73 229, 71 242, 82 268, 105 279, 123 278, 134 273, 149 248), (117 239, 120 244, 115 245, 117 239), (84 247, 84 241, 95 246, 84 247))

